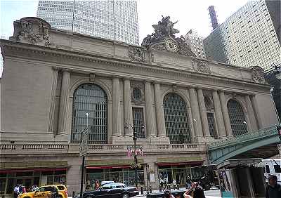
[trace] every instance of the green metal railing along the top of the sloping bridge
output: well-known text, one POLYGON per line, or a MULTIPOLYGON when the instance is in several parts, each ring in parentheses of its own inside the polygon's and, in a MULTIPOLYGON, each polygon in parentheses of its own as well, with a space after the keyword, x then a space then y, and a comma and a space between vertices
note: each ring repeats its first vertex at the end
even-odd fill
POLYGON ((256 140, 273 135, 277 135, 276 126, 270 126, 269 128, 263 128, 258 131, 242 134, 240 136, 233 136, 231 138, 218 140, 215 143, 208 144, 208 150, 214 150, 218 147, 230 146, 236 143, 243 143, 249 140, 256 140))

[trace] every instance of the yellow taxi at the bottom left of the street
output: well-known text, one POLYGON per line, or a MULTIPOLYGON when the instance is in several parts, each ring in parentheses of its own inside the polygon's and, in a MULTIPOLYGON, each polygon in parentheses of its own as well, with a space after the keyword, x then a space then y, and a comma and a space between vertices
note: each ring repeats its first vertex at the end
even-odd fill
POLYGON ((18 198, 67 198, 55 185, 45 185, 33 192, 18 195, 18 198), (53 195, 56 195, 55 197, 53 195))

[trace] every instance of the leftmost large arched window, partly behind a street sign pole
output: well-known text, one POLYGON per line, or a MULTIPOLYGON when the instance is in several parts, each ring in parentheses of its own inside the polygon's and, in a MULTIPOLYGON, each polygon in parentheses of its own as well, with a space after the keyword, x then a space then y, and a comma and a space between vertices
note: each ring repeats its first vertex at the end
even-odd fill
POLYGON ((72 142, 80 141, 80 133, 87 128, 89 113, 89 143, 107 143, 107 96, 100 86, 82 84, 73 95, 72 142))

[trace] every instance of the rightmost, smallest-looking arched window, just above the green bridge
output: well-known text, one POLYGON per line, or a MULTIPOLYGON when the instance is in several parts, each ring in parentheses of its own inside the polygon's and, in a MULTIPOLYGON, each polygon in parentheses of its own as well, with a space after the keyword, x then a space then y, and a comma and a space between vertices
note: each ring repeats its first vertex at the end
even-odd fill
POLYGON ((241 105, 236 100, 228 100, 228 114, 233 136, 247 133, 247 123, 241 105))

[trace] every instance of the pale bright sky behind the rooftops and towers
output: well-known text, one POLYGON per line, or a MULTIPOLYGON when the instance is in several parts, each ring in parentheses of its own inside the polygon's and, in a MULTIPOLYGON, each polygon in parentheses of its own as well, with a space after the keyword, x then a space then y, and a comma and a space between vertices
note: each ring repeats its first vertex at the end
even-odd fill
MULTIPOLYGON (((117 0, 115 0, 117 1, 117 0)), ((140 43, 148 34, 154 32, 152 25, 169 15, 171 21, 178 22, 174 28, 185 35, 189 29, 197 30, 202 37, 211 33, 209 6, 215 6, 218 23, 244 6, 248 0, 137 0, 138 28, 140 43)), ((0 36, 13 35, 13 21, 27 16, 36 16, 38 0, 0 0, 0 36)), ((1 68, 0 68, 1 77, 1 68)))

